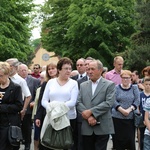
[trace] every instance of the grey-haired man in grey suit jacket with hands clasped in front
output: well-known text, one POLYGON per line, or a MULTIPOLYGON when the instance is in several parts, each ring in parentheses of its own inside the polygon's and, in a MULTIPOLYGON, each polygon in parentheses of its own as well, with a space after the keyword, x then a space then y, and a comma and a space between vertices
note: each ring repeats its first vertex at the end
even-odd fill
POLYGON ((115 84, 101 77, 103 64, 89 63, 90 80, 80 85, 77 110, 82 114, 81 133, 84 150, 106 150, 109 134, 114 133, 111 107, 115 84))

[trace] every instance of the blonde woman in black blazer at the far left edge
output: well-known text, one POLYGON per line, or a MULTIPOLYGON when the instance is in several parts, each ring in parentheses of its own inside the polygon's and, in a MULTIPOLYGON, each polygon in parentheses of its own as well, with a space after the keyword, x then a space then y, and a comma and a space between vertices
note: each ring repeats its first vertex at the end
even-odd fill
POLYGON ((21 87, 9 79, 10 66, 0 62, 0 149, 13 149, 8 141, 9 124, 20 126, 23 107, 21 87))

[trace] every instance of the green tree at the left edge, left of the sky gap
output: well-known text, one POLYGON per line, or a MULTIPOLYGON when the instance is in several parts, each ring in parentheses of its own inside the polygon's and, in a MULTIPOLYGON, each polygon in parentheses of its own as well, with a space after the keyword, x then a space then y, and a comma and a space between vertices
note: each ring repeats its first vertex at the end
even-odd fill
POLYGON ((29 43, 32 0, 0 1, 0 60, 16 57, 22 62, 33 52, 29 43))

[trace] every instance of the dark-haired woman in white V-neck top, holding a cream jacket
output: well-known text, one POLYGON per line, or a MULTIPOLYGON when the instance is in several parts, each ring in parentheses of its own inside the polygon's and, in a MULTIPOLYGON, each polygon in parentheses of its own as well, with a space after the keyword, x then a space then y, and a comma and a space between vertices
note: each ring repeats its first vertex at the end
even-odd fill
POLYGON ((76 123, 76 101, 78 96, 78 84, 70 78, 72 71, 72 61, 61 58, 57 63, 58 77, 48 81, 42 98, 42 105, 47 108, 52 101, 64 102, 69 107, 67 117, 74 129, 76 123))

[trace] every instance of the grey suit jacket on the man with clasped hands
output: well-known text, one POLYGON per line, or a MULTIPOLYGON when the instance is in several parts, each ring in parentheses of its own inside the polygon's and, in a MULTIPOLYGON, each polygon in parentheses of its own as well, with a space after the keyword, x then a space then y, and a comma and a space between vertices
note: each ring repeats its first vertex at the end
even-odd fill
POLYGON ((105 135, 114 133, 111 117, 111 108, 115 101, 115 84, 112 81, 101 78, 94 95, 92 95, 92 81, 86 81, 80 85, 77 101, 77 110, 82 113, 90 109, 99 125, 90 126, 88 121, 82 120, 82 135, 105 135))

